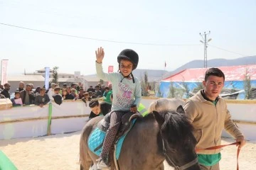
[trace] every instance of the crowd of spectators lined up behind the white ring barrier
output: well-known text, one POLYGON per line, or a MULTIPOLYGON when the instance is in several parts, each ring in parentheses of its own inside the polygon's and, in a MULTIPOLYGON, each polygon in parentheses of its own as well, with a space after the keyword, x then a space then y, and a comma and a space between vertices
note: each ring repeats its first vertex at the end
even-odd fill
POLYGON ((10 98, 13 106, 24 106, 24 105, 37 105, 43 107, 50 101, 55 101, 57 104, 61 104, 63 100, 73 100, 81 99, 86 101, 92 100, 92 98, 103 98, 106 103, 112 103, 112 84, 105 86, 104 84, 98 83, 94 88, 90 86, 87 90, 83 88, 81 83, 63 84, 59 86, 58 84, 51 83, 50 88, 46 89, 44 86, 37 86, 34 89, 33 84, 24 84, 20 81, 14 96, 10 95, 11 84, 6 83, 0 86, 0 98, 10 98))

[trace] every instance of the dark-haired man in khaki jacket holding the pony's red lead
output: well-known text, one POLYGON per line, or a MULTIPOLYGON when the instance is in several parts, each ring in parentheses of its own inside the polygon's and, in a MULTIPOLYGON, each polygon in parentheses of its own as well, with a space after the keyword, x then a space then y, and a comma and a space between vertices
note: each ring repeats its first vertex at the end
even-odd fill
MULTIPOLYGON (((225 100, 219 96, 224 81, 225 75, 220 69, 208 69, 203 81, 205 88, 184 104, 186 116, 195 128, 193 133, 198 142, 196 148, 204 149, 220 145, 224 128, 237 142, 240 142, 239 149, 245 145, 245 138, 231 120, 225 100)), ((201 150, 197 154, 201 169, 220 169, 220 149, 201 150)))

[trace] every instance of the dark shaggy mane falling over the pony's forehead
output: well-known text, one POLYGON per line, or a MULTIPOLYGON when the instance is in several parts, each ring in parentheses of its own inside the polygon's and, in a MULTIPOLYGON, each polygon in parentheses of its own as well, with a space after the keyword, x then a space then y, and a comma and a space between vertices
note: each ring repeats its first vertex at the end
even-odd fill
POLYGON ((186 118, 183 113, 177 113, 175 111, 166 111, 165 113, 160 113, 165 119, 163 128, 163 133, 174 145, 182 145, 188 141, 188 137, 193 135, 193 126, 186 118))

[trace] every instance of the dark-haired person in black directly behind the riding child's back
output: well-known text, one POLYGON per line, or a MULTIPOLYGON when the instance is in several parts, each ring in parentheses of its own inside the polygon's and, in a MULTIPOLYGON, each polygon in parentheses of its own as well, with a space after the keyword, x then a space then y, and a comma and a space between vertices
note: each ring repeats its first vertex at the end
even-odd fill
POLYGON ((99 115, 106 115, 107 113, 110 113, 112 105, 104 101, 99 103, 97 99, 92 99, 89 103, 89 107, 92 109, 89 115, 89 119, 91 119, 99 115))

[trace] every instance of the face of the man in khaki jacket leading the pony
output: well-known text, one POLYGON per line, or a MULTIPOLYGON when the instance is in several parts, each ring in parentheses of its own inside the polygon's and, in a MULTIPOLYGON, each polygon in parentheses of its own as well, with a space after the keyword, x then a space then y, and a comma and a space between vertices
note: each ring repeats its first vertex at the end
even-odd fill
POLYGON ((203 86, 205 86, 206 96, 215 101, 223 89, 224 79, 223 77, 210 76, 206 81, 203 81, 203 86))

